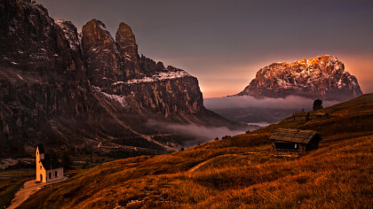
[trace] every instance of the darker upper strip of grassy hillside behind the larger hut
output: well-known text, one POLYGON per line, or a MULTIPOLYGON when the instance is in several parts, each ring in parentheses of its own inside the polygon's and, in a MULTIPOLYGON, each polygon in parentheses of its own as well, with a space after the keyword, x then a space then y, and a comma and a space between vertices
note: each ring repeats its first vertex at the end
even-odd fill
POLYGON ((363 95, 342 104, 336 104, 319 111, 310 112, 305 121, 293 121, 292 117, 277 124, 253 131, 249 135, 235 135, 220 143, 206 143, 204 148, 253 147, 270 143, 269 136, 277 128, 299 128, 316 130, 323 141, 321 146, 330 142, 362 135, 373 135, 373 94, 363 95), (329 119, 315 119, 315 113, 327 112, 329 119))

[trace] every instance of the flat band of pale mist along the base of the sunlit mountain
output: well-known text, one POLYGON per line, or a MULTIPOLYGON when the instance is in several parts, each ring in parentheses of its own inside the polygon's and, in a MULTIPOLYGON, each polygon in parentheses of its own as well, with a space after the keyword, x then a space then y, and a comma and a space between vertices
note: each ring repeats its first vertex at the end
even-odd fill
MULTIPOLYGON (((285 98, 255 98, 250 96, 241 97, 215 97, 204 98, 204 106, 207 109, 232 109, 232 108, 266 108, 266 109, 301 109, 312 110, 313 99, 298 96, 285 98)), ((322 101, 324 107, 338 104, 337 101, 322 101)))

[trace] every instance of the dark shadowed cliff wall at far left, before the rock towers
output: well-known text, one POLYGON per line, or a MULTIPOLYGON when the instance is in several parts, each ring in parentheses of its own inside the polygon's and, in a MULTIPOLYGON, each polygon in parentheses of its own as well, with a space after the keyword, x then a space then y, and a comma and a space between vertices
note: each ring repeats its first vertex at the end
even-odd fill
MULTIPOLYGON (((83 120, 91 112, 79 47, 67 39, 40 4, 2 1, 0 35, 1 154, 22 153, 28 144, 63 143, 54 120, 83 120), (77 88, 78 86, 82 88, 77 88)), ((68 135, 68 134, 66 134, 68 135)))

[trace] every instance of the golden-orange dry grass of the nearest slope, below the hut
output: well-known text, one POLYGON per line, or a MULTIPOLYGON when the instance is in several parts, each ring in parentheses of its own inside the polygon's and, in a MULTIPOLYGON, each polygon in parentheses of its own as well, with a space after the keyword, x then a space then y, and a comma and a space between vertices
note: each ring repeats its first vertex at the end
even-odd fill
POLYGON ((192 173, 146 174, 139 178, 124 177, 139 168, 91 177, 86 177, 87 171, 77 179, 38 192, 36 199, 44 201, 30 200, 22 206, 364 208, 372 204, 373 136, 337 142, 298 159, 272 157, 265 163, 249 160, 250 155, 222 155, 192 173), (225 157, 234 163, 217 163, 220 159, 225 163, 225 157), (107 181, 109 178, 111 181, 107 181))

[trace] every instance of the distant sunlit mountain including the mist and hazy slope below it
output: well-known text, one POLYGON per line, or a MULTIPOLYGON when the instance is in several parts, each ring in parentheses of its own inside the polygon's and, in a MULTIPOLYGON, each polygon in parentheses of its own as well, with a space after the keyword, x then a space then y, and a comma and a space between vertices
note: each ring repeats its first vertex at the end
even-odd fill
POLYGON ((278 122, 302 108, 312 110, 314 99, 320 98, 328 106, 361 95, 359 82, 345 71, 344 64, 325 55, 265 66, 242 92, 232 97, 205 99, 205 105, 230 120, 266 124, 278 122))

